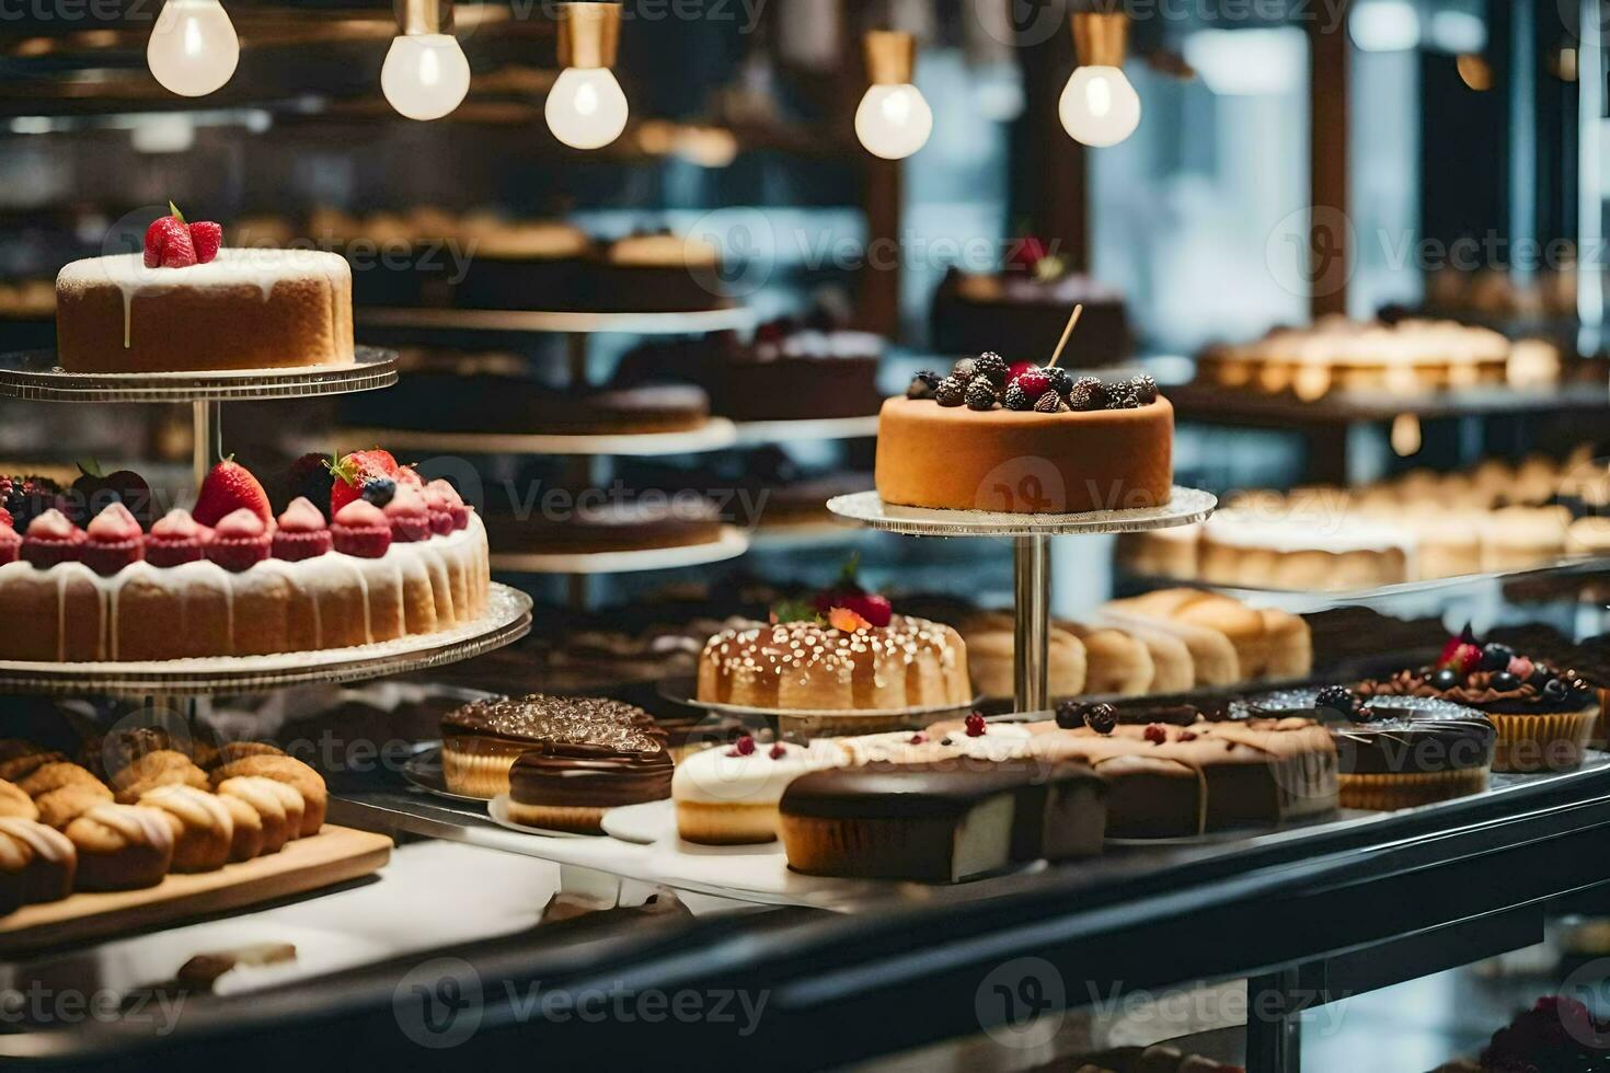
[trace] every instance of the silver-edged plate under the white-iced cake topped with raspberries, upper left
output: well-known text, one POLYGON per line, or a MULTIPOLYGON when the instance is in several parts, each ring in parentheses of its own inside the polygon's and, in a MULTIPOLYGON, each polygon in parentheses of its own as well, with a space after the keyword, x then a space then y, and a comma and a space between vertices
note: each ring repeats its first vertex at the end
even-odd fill
POLYGON ((34 402, 230 402, 298 399, 390 388, 396 351, 359 346, 351 365, 188 373, 69 373, 55 351, 0 354, 0 396, 34 402))

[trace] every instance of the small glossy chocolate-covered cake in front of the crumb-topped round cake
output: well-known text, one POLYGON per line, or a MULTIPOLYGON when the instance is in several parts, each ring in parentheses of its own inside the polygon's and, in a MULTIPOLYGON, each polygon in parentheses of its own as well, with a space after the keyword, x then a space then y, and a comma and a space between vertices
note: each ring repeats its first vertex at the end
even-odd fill
POLYGON ((671 796, 671 756, 660 742, 617 748, 547 742, 509 771, 509 819, 576 835, 604 832, 604 812, 671 796))

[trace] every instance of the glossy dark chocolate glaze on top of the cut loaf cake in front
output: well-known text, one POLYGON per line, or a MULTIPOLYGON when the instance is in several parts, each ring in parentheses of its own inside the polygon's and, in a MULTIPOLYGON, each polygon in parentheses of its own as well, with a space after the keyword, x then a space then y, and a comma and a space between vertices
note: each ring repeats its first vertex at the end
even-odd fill
POLYGON ((1001 761, 987 766, 937 761, 873 763, 800 775, 782 793, 782 812, 815 819, 932 819, 968 811, 979 801, 1029 787, 1101 777, 1085 764, 1001 761))

